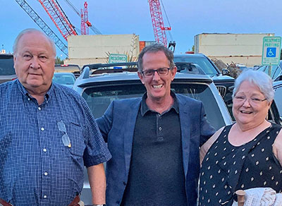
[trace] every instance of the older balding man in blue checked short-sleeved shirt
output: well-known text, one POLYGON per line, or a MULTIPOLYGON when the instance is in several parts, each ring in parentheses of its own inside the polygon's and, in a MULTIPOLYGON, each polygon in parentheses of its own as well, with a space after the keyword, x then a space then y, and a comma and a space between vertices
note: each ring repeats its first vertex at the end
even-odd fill
POLYGON ((16 38, 17 80, 0 85, 0 199, 12 205, 76 205, 87 166, 92 202, 105 203, 111 158, 87 104, 52 83, 56 49, 42 32, 16 38))

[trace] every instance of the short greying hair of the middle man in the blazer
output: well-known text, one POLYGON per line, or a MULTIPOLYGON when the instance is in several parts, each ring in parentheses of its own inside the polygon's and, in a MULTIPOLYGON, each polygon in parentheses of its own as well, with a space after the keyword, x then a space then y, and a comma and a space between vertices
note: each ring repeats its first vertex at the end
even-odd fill
POLYGON ((143 56, 146 53, 157 53, 157 52, 164 52, 164 54, 166 55, 166 58, 169 61, 169 68, 173 68, 175 66, 174 62, 173 62, 173 52, 164 47, 164 45, 162 44, 152 44, 149 45, 147 47, 144 47, 144 49, 142 49, 142 51, 140 52, 139 56, 138 56, 138 61, 137 61, 137 66, 138 66, 138 71, 141 72, 143 70, 143 56))

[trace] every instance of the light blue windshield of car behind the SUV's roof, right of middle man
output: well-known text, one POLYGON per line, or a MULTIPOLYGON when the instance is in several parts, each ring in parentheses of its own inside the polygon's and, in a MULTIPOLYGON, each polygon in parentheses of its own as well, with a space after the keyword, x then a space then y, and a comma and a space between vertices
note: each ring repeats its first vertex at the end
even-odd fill
POLYGON ((207 75, 218 75, 219 72, 214 68, 212 63, 205 58, 204 56, 175 56, 173 59, 174 62, 189 62, 189 63, 197 63, 204 73, 207 75))

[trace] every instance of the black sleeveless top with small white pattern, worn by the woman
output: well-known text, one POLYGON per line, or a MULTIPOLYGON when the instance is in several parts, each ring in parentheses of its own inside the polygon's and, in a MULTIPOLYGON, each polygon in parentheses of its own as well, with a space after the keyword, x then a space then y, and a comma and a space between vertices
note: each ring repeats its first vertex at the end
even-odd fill
POLYGON ((236 190, 270 187, 281 193, 282 166, 272 152, 281 126, 271 124, 249 143, 235 147, 228 142, 226 126, 210 147, 200 172, 199 205, 232 205, 236 190))

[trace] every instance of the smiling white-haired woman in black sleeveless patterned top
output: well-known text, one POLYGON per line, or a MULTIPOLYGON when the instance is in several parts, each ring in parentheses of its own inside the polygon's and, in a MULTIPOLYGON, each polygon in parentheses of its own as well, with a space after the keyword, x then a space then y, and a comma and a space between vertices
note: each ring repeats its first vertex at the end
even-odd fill
POLYGON ((232 205, 239 189, 269 187, 281 193, 282 166, 272 152, 281 126, 266 121, 273 98, 266 73, 245 71, 235 80, 236 123, 212 137, 214 143, 202 161, 199 205, 232 205))

